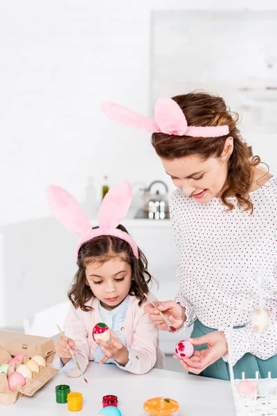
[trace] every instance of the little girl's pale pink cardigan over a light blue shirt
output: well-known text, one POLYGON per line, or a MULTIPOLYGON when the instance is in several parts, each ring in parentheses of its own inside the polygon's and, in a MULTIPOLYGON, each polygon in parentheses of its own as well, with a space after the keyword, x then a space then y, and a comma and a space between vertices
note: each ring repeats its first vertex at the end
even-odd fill
MULTIPOLYGON (((154 299, 152 293, 149 296, 154 299)), ((98 299, 93 297, 86 305, 92 306, 93 310, 84 312, 80 308, 74 309, 71 306, 64 322, 64 333, 75 341, 78 361, 83 372, 89 361, 93 361, 98 346, 92 338, 93 327, 102 321, 98 311, 98 299)), ((145 374, 153 367, 161 369, 165 367, 165 356, 159 349, 159 331, 148 313, 143 311, 143 306, 145 304, 139 306, 139 300, 135 296, 130 296, 126 318, 120 329, 126 338, 127 347, 134 352, 134 361, 126 371, 134 374, 145 374)), ((76 368, 66 374, 78 377, 80 371, 76 368)))

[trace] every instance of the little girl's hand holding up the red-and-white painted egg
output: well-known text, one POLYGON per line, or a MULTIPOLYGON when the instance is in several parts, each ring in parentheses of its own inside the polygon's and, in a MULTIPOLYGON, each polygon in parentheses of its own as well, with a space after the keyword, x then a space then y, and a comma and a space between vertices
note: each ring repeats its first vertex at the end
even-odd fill
POLYGON ((109 332, 111 334, 111 343, 98 340, 98 344, 101 345, 101 351, 105 354, 99 365, 106 363, 109 358, 114 358, 118 364, 124 366, 129 361, 129 351, 111 329, 109 329, 109 332))

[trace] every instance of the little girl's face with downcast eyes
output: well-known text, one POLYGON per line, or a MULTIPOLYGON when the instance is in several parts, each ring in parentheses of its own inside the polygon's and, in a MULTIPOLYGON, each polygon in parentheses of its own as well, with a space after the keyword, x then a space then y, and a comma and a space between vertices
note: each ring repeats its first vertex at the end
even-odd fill
POLYGON ((103 308, 111 311, 129 293, 132 283, 132 268, 129 263, 114 257, 105 263, 96 261, 86 266, 87 283, 103 308))

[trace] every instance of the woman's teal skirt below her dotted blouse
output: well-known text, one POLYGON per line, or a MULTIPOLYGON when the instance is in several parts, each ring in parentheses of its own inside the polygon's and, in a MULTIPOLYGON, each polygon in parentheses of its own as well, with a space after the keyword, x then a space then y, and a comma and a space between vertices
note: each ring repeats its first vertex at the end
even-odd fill
MULTIPOLYGON (((199 320, 196 320, 194 322, 193 332, 191 333, 190 337, 196 338, 214 331, 217 331, 217 329, 205 327, 199 320)), ((199 351, 207 348, 208 346, 206 344, 195 346, 195 349, 199 351)), ((260 379, 267 378, 269 371, 271 372, 271 377, 277 378, 277 355, 268 358, 267 360, 261 360, 260 358, 253 356, 253 354, 247 353, 244 354, 244 356, 242 356, 242 358, 240 358, 240 360, 237 361, 233 367, 235 379, 241 379, 242 372, 245 373, 245 377, 247 379, 255 379, 257 371, 259 373, 260 379)), ((205 370, 202 371, 199 376, 211 377, 213 379, 230 380, 229 364, 225 363, 225 361, 220 358, 219 360, 215 361, 215 363, 205 368, 205 370)))

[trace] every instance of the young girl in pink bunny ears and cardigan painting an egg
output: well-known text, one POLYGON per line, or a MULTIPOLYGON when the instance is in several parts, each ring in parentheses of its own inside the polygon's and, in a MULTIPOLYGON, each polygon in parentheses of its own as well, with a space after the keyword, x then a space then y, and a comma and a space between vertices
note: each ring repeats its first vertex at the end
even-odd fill
POLYGON ((91 229, 89 218, 73 197, 60 187, 48 187, 46 198, 53 215, 66 228, 80 234, 78 271, 69 291, 73 304, 64 324, 66 341, 55 345, 60 367, 69 376, 80 376, 69 346, 82 372, 89 361, 114 363, 134 374, 145 374, 154 365, 164 367, 158 329, 143 311, 144 293, 152 277, 148 262, 120 220, 129 209, 132 189, 127 182, 107 193, 98 214, 99 227, 91 229), (107 324, 109 343, 93 340, 93 327, 107 324))

